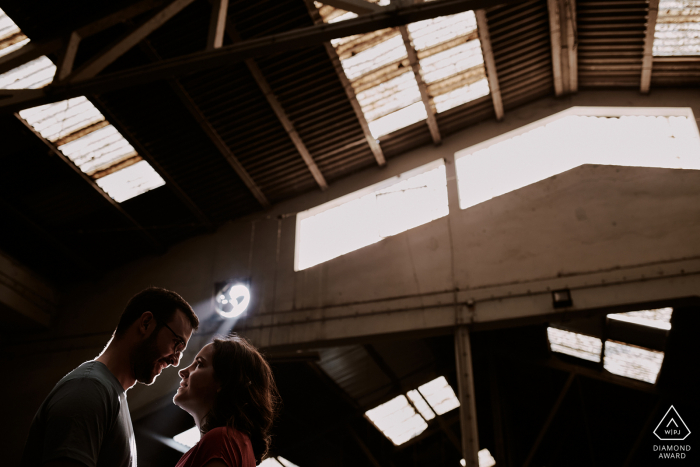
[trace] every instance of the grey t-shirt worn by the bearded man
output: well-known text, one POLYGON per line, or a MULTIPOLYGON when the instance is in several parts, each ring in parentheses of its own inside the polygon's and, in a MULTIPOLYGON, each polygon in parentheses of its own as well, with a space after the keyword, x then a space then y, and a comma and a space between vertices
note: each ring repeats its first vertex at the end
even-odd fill
POLYGON ((100 362, 85 362, 68 373, 34 416, 21 466, 61 458, 87 467, 136 467, 126 393, 100 362))

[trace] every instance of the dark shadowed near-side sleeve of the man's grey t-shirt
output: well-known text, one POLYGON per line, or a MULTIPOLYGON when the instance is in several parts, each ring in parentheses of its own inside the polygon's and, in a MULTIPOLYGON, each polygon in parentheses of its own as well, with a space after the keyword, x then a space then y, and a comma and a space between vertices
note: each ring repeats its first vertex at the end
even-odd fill
POLYGON ((118 403, 97 381, 63 384, 46 407, 41 461, 69 458, 94 467, 102 439, 119 413, 118 403))

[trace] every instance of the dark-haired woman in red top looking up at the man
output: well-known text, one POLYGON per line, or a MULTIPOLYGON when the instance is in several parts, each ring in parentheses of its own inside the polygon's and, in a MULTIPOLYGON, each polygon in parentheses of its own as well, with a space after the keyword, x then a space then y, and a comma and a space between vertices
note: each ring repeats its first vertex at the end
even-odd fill
POLYGON ((262 461, 278 395, 257 349, 237 336, 214 339, 180 377, 173 402, 192 415, 202 438, 176 467, 255 467, 262 461))

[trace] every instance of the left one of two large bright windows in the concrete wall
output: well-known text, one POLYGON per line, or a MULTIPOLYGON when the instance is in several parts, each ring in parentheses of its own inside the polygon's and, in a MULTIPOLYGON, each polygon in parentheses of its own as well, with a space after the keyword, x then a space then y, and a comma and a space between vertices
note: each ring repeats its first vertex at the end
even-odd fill
POLYGON ((449 213, 442 159, 297 214, 301 271, 449 213))

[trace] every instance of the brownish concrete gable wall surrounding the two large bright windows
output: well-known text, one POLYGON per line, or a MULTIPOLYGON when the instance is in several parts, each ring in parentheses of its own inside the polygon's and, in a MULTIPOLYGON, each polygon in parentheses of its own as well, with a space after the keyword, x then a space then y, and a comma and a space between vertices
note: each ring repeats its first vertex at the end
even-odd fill
MULTIPOLYGON (((18 384, 3 387, 4 400, 23 402, 9 408, 7 416, 15 425, 3 435, 9 436, 3 443, 23 443, 41 394, 99 352, 126 301, 148 285, 176 290, 206 321, 212 316, 214 283, 250 277, 254 300, 249 318, 237 327, 261 345, 335 342, 421 326, 543 314, 551 312, 549 289, 560 287, 575 289, 581 309, 651 302, 697 290, 697 276, 690 274, 700 271, 696 171, 584 166, 459 209, 455 152, 571 106, 691 107, 700 116, 700 93, 600 91, 543 99, 507 113, 503 122, 483 122, 446 138, 440 147, 418 148, 389 161, 386 168, 365 170, 326 192, 281 203, 183 242, 160 257, 141 259, 74 287, 65 294, 50 332, 66 339, 9 350, 18 384), (448 165, 448 217, 293 271, 293 214, 441 157, 448 165), (659 276, 659 271, 662 279, 651 285, 640 282, 650 274, 659 276), (605 288, 606 281, 619 287, 605 288), (474 306, 460 305, 468 301, 474 306), (47 365, 51 368, 43 372, 47 365), (26 384, 36 397, 24 402, 26 384)), ((206 339, 193 340, 185 360, 206 339)), ((129 391, 132 411, 163 399, 176 381, 176 371, 169 369, 153 387, 129 391)), ((11 451, 19 455, 17 449, 11 451)))

